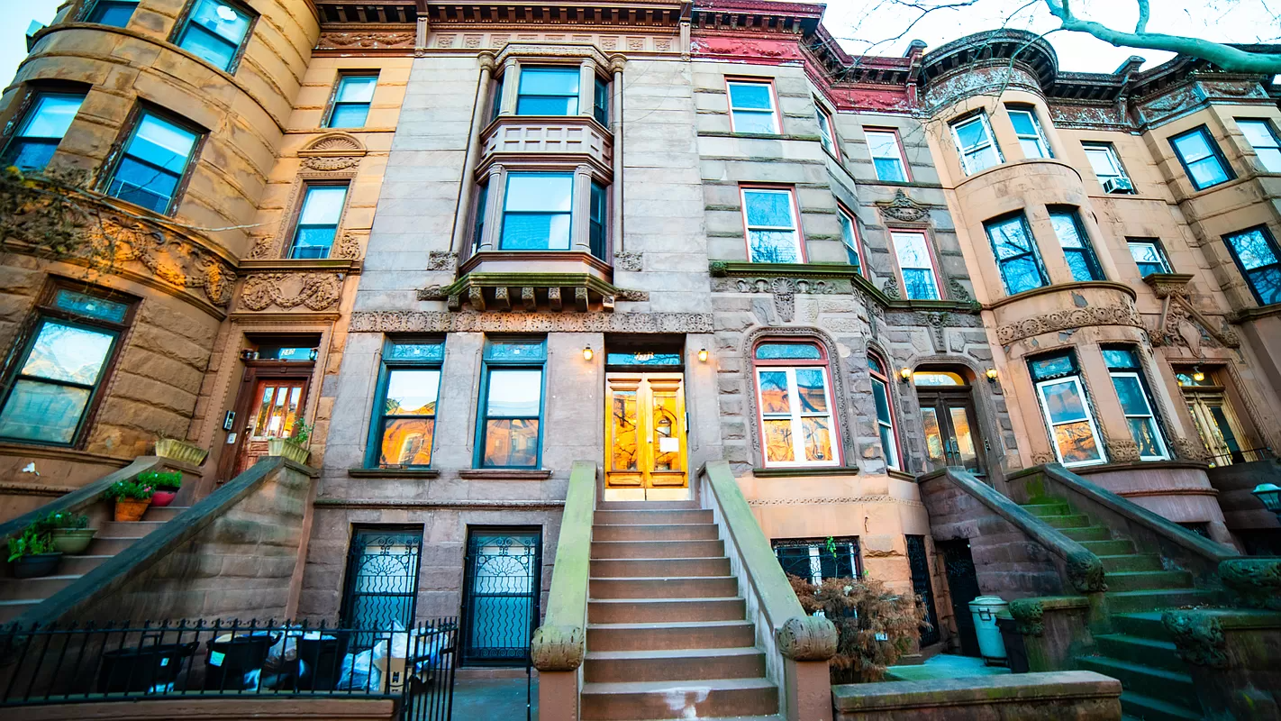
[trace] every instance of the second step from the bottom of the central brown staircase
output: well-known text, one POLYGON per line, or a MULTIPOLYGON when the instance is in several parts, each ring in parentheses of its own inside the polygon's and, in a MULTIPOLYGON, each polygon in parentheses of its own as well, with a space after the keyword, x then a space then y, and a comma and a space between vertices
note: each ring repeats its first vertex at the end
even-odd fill
POLYGON ((765 653, 757 648, 681 648, 674 651, 589 651, 585 683, 758 679, 765 653))

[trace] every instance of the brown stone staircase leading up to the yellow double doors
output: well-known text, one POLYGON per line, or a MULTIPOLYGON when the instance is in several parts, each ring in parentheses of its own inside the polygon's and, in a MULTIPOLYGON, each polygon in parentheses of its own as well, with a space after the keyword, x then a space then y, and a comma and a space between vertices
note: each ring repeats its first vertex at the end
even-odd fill
POLYGON ((779 718, 712 512, 601 502, 592 526, 584 720, 779 718))

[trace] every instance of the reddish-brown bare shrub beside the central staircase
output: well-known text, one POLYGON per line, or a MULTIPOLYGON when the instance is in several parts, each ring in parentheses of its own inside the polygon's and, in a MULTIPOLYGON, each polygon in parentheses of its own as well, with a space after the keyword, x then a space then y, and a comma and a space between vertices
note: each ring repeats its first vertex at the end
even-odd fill
POLYGON ((836 626, 834 684, 883 680, 885 667, 911 651, 926 625, 918 598, 890 592, 876 579, 826 579, 820 585, 790 574, 788 579, 807 613, 821 611, 836 626))

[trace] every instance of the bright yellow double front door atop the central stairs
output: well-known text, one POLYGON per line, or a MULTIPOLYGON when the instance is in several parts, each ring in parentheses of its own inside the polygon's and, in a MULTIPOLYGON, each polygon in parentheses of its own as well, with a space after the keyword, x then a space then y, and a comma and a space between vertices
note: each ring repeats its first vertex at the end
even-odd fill
POLYGON ((606 489, 687 488, 681 373, 606 377, 606 489))

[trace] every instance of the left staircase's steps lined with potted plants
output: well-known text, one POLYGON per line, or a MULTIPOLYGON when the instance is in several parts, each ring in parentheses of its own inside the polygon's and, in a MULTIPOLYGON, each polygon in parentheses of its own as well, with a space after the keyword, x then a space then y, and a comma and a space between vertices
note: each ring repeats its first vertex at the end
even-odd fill
POLYGON ((58 574, 38 579, 0 578, 0 625, 35 608, 41 601, 70 585, 186 510, 186 506, 151 507, 141 521, 99 523, 97 534, 85 553, 63 556, 58 574))

